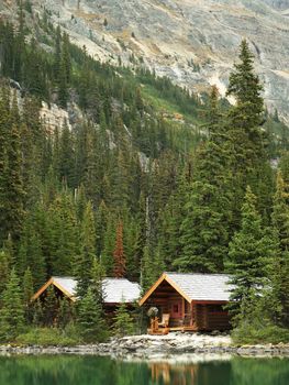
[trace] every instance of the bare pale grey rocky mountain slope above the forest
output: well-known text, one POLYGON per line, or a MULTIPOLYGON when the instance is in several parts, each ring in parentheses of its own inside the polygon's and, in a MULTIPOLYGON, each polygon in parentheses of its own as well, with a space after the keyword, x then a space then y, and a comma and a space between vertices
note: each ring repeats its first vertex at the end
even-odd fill
MULTIPOLYGON (((7 8, 12 1, 5 1, 7 8)), ((33 0, 101 61, 145 64, 194 91, 225 92, 246 37, 268 108, 289 121, 288 0, 33 0)))

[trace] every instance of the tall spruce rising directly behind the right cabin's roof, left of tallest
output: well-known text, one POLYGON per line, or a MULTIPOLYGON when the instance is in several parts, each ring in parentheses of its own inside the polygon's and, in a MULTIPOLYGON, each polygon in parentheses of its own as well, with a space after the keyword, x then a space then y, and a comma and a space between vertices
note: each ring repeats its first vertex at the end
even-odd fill
POLYGON ((181 271, 222 272, 230 238, 232 179, 229 136, 222 122, 218 91, 212 88, 207 129, 194 161, 194 175, 187 194, 181 223, 181 254, 174 265, 181 271))

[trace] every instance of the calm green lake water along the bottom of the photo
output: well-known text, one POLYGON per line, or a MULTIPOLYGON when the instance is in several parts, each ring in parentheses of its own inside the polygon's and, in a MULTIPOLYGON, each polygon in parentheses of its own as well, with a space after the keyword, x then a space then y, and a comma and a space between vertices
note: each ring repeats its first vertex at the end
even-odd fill
POLYGON ((0 356, 0 385, 288 385, 289 359, 0 356))

